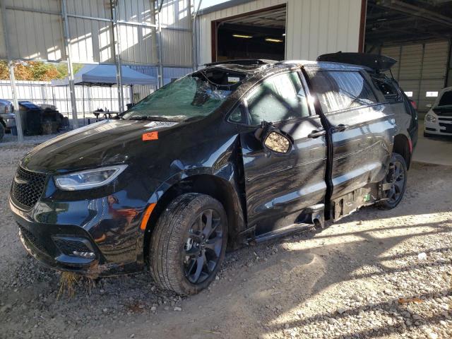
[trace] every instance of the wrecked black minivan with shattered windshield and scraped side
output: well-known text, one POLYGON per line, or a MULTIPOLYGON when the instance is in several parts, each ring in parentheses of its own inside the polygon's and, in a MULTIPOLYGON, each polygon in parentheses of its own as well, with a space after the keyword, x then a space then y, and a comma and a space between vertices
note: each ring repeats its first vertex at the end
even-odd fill
POLYGON ((209 64, 25 155, 10 194, 20 239, 52 268, 148 267, 161 287, 191 295, 227 247, 395 208, 414 118, 372 77, 386 81, 332 62, 209 64))

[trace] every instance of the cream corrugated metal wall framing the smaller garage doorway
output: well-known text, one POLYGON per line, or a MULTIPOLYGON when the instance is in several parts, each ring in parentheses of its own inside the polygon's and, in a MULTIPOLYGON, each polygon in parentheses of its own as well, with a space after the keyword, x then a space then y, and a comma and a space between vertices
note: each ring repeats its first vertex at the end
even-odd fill
POLYGON ((198 64, 211 61, 211 22, 287 4, 285 59, 316 59, 330 52, 357 52, 361 0, 254 0, 198 18, 198 64))

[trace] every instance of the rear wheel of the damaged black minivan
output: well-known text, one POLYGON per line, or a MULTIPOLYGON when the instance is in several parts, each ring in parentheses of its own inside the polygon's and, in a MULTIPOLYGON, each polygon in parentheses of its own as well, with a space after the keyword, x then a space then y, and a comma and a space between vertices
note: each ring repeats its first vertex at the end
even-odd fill
POLYGON ((378 206, 385 210, 391 210, 402 201, 407 186, 407 165, 402 155, 392 154, 383 184, 391 184, 391 188, 383 191, 384 200, 380 201, 378 206))

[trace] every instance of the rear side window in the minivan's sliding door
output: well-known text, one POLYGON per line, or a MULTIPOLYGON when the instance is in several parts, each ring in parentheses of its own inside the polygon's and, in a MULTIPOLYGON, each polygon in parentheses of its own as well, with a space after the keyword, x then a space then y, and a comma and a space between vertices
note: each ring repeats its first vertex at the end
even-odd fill
POLYGON ((369 83, 357 71, 314 71, 310 77, 314 93, 325 113, 377 102, 369 83))

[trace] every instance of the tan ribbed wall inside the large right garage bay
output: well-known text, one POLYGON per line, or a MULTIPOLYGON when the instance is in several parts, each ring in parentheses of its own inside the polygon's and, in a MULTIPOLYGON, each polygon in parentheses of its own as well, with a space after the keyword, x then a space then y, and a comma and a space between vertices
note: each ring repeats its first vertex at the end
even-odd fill
POLYGON ((394 78, 405 92, 412 92, 411 99, 420 112, 426 112, 425 105, 436 100, 436 97, 427 97, 427 92, 444 88, 448 48, 448 41, 381 48, 381 54, 398 60, 392 69, 394 78))

